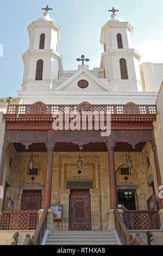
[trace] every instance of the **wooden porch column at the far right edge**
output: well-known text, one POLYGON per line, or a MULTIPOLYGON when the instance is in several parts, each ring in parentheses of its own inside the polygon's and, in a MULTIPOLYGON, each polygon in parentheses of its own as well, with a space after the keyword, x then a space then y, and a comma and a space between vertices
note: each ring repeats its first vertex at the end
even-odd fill
MULTIPOLYGON (((162 179, 161 179, 160 165, 159 165, 159 159, 158 159, 158 151, 155 144, 154 131, 152 131, 152 139, 153 139, 152 149, 153 149, 153 155, 154 155, 156 176, 158 180, 158 186, 161 186, 162 179)), ((163 209, 163 198, 160 198, 160 206, 161 206, 161 209, 163 209)))

